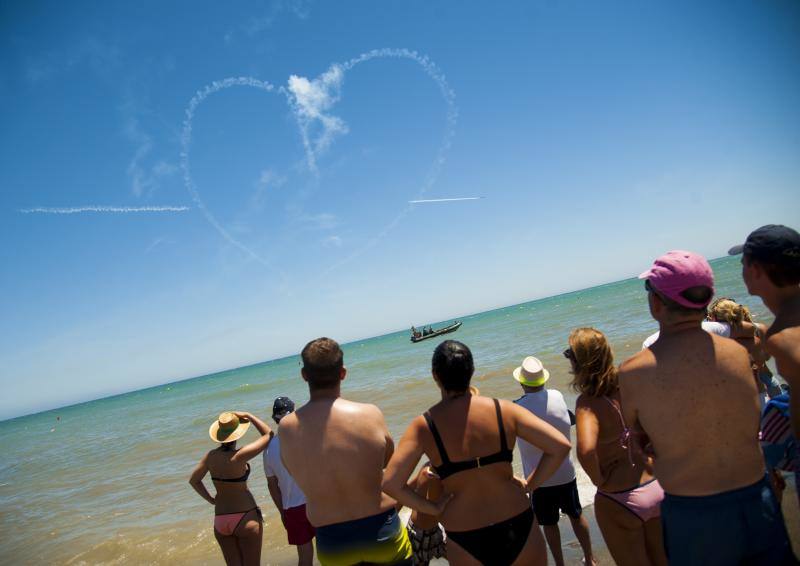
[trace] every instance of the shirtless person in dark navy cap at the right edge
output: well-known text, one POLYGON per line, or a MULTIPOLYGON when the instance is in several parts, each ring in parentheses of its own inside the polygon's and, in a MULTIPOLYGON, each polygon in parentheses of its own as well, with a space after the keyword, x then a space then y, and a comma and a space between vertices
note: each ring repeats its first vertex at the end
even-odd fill
POLYGON ((742 255, 747 292, 761 297, 775 315, 765 349, 775 358, 778 373, 791 386, 792 428, 800 434, 800 234, 769 224, 753 231, 729 254, 742 255))

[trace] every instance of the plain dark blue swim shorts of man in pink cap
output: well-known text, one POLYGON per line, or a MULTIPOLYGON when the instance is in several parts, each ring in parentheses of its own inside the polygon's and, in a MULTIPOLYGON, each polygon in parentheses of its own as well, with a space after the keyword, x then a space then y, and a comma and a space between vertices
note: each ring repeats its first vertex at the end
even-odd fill
POLYGON ((716 495, 665 493, 661 527, 670 564, 796 564, 766 477, 716 495))

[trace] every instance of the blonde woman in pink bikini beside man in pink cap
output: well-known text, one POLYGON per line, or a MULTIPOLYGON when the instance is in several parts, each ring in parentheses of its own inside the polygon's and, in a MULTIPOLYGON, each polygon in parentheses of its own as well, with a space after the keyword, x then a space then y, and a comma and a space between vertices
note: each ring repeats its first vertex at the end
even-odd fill
POLYGON ((617 368, 605 335, 578 328, 564 351, 572 364, 578 460, 597 486, 595 516, 619 566, 666 565, 661 536, 664 490, 649 459, 634 449, 622 418, 617 368))

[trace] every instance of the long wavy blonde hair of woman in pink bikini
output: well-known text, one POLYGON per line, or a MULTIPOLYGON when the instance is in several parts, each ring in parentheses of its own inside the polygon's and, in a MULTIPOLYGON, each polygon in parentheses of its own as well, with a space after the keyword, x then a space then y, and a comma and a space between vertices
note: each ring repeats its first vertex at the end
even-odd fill
POLYGON ((611 395, 619 388, 614 353, 605 334, 594 328, 576 328, 569 335, 574 377, 572 389, 588 397, 611 395))

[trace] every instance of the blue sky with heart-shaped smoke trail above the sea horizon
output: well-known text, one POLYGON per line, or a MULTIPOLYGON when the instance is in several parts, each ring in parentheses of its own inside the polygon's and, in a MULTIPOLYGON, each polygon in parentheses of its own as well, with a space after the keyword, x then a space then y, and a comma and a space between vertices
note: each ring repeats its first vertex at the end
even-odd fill
POLYGON ((19 1, 0 30, 0 418, 800 225, 796 2, 19 1), (76 207, 176 210, 21 212, 76 207))

